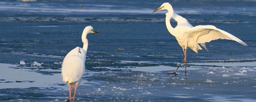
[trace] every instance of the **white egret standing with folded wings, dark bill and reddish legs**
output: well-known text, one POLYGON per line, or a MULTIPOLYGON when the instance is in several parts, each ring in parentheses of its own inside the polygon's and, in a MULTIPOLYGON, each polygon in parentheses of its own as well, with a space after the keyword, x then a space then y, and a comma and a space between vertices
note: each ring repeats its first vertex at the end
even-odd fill
POLYGON ((76 87, 82 81, 82 76, 85 69, 86 53, 88 49, 88 39, 86 36, 88 33, 99 33, 94 31, 92 26, 84 28, 82 33, 83 48, 76 47, 72 49, 64 58, 61 69, 61 76, 64 82, 70 86, 69 96, 67 101, 71 101, 71 88, 73 89, 73 101, 75 101, 76 87), (74 92, 75 86, 75 92, 74 92))

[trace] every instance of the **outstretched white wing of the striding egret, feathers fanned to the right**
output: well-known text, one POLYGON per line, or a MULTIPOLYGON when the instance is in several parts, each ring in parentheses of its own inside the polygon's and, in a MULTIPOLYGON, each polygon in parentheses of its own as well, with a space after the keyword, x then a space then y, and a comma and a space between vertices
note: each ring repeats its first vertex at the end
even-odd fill
POLYGON ((188 29, 187 33, 190 33, 190 35, 196 40, 197 43, 207 43, 216 39, 228 39, 228 40, 234 40, 238 43, 241 43, 244 46, 247 46, 247 44, 244 43, 244 41, 212 25, 195 26, 188 29))

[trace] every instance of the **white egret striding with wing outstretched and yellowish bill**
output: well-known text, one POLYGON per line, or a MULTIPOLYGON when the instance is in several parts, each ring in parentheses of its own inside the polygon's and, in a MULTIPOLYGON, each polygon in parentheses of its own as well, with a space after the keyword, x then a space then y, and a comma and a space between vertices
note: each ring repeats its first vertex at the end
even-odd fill
MULTIPOLYGON (((175 14, 172 8, 172 5, 168 2, 163 3, 159 8, 154 10, 152 13, 158 11, 158 10, 167 10, 165 23, 168 31, 177 39, 179 45, 182 47, 183 53, 184 53, 184 59, 178 66, 178 68, 174 71, 174 73, 167 73, 168 75, 177 75, 176 71, 178 71, 179 67, 182 65, 183 62, 185 62, 185 71, 186 71, 186 49, 190 48, 196 53, 198 53, 198 50, 202 50, 202 48, 198 44, 202 44, 203 47, 205 47, 204 43, 210 42, 212 40, 216 39, 228 39, 228 40, 234 40, 238 43, 241 43, 244 46, 247 46, 244 41, 238 39, 234 35, 223 31, 221 29, 216 28, 212 25, 200 25, 193 27, 191 24, 188 23, 188 21, 183 18, 182 16, 179 16, 178 14, 175 14), (178 22, 176 27, 172 27, 170 24, 170 19, 174 18, 176 22, 178 22), (184 51, 185 49, 185 51, 184 51)), ((205 47, 206 48, 206 47, 205 47)), ((186 77, 187 74, 185 73, 186 77)))

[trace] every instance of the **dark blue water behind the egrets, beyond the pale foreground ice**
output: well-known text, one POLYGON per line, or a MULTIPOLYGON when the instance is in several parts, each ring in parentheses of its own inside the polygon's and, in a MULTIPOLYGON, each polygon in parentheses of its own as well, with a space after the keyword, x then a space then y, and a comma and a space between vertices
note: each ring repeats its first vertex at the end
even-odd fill
MULTIPOLYGON (((214 25, 249 46, 216 40, 207 43, 208 52, 197 54, 189 49, 188 61, 255 59, 256 3, 199 1, 169 2, 193 26, 214 25)), ((180 62, 182 49, 164 24, 166 11, 151 14, 162 2, 165 1, 1 1, 0 63, 62 61, 70 49, 82 47, 81 34, 89 25, 100 34, 88 35, 88 61, 180 62)), ((176 26, 176 22, 172 24, 176 26)))

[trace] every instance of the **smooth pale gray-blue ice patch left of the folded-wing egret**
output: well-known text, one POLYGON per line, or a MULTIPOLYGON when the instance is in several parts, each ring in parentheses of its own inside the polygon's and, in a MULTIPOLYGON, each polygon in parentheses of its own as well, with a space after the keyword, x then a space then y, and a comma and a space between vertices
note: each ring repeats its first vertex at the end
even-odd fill
POLYGON ((60 70, 42 69, 42 67, 25 68, 17 66, 18 65, 0 63, 0 89, 30 87, 61 87, 56 86, 56 84, 64 84, 64 82, 62 82, 60 70), (41 72, 49 72, 51 74, 43 74, 41 72))

